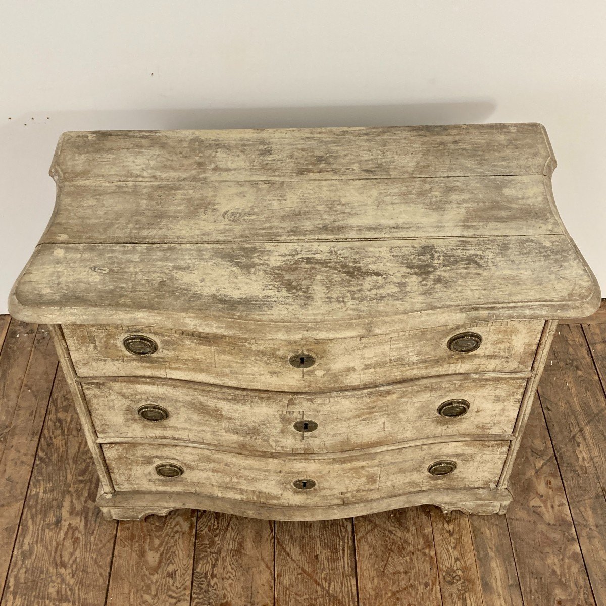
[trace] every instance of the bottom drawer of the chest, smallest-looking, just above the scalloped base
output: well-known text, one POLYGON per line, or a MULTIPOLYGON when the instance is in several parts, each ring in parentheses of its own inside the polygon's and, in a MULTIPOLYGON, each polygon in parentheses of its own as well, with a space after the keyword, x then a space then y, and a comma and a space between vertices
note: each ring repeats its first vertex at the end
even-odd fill
MULTIPOLYGON (((508 445, 508 441, 446 442, 379 453, 307 456, 251 456, 132 443, 102 448, 118 491, 190 492, 259 504, 316 506, 436 488, 494 488, 508 445), (452 462, 454 470, 431 474, 428 468, 439 461, 452 462), (176 477, 159 475, 179 470, 182 474, 176 477)), ((448 471, 449 465, 434 471, 448 471)))

